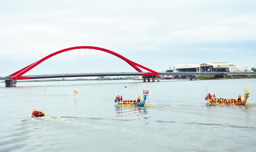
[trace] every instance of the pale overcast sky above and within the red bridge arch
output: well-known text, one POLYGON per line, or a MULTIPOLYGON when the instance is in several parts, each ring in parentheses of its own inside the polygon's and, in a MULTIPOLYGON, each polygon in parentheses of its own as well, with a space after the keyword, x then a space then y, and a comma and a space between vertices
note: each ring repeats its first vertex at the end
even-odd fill
MULTIPOLYGON (((255 8, 255 0, 1 0, 0 76, 73 46, 110 49, 155 71, 209 62, 255 67, 255 8)), ((107 53, 79 50, 33 71, 134 69, 107 53)))

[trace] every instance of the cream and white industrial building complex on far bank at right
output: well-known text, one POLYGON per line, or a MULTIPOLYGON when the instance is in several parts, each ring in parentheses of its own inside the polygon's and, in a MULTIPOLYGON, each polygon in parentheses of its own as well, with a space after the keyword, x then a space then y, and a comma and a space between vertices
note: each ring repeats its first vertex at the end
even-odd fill
POLYGON ((174 64, 166 72, 246 72, 248 67, 230 64, 228 62, 212 62, 203 64, 174 64))

